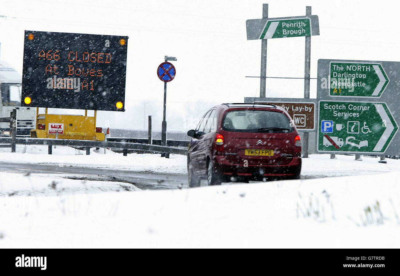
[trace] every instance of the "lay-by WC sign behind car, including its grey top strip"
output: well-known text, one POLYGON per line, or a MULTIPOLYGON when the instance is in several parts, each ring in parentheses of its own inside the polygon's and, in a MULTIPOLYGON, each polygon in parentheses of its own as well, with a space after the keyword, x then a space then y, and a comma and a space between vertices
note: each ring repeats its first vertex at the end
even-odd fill
POLYGON ((310 99, 244 98, 246 103, 274 104, 283 108, 292 118, 297 130, 314 130, 316 108, 310 99))

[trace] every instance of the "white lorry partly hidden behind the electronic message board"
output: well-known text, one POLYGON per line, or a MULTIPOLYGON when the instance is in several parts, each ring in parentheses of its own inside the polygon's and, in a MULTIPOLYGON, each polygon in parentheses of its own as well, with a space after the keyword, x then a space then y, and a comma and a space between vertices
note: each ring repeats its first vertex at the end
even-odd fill
MULTIPOLYGON (((17 109, 17 135, 30 135, 35 128, 36 108, 21 106, 21 75, 8 62, 0 61, 0 117, 17 109)), ((0 135, 10 135, 10 124, 0 123, 0 135)))

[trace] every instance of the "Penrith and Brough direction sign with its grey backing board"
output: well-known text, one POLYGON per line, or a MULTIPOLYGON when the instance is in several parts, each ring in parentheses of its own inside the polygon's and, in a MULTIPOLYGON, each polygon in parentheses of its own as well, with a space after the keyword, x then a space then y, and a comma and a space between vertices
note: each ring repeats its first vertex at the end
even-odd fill
POLYGON ((318 16, 292 16, 246 20, 247 40, 318 36, 318 16))

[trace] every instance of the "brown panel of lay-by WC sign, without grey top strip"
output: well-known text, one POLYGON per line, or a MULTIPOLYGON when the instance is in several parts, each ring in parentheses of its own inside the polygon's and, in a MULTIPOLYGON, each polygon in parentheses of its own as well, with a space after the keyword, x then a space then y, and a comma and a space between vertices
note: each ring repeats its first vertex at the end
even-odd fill
POLYGON ((296 128, 299 130, 315 129, 315 103, 314 102, 266 102, 282 107, 292 117, 296 128))

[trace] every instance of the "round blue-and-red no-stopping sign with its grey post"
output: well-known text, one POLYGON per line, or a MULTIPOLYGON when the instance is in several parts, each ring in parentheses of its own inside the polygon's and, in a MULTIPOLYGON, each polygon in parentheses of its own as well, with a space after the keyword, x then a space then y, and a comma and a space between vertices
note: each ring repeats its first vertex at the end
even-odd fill
MULTIPOLYGON (((157 68, 157 76, 160 80, 164 82, 164 110, 162 116, 162 124, 161 124, 161 145, 167 145, 167 121, 166 121, 166 107, 167 107, 167 82, 170 82, 175 78, 176 69, 172 63, 168 62, 168 60, 175 60, 174 56, 164 56, 165 62, 160 64, 157 68)), ((161 157, 169 158, 169 154, 161 154, 161 157)))

